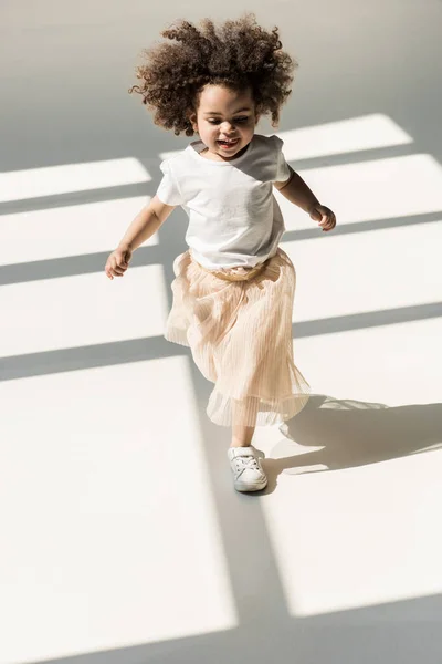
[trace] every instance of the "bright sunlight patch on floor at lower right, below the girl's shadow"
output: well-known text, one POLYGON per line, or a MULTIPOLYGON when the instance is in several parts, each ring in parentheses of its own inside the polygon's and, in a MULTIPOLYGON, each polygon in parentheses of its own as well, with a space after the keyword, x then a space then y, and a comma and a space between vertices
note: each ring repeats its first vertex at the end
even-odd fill
POLYGON ((347 611, 442 592, 442 452, 278 476, 262 501, 290 613, 347 611))

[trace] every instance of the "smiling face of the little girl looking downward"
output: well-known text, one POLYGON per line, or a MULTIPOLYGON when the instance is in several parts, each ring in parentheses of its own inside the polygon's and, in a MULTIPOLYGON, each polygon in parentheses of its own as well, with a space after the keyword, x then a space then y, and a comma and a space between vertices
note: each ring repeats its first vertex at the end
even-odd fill
POLYGON ((235 92, 221 85, 206 85, 190 121, 208 148, 207 156, 229 160, 252 141, 259 118, 250 90, 235 92))

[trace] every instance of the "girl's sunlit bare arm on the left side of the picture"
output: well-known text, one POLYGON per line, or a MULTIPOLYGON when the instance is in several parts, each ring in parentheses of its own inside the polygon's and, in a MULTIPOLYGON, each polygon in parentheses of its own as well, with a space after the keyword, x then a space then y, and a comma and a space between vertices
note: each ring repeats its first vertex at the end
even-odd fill
POLYGON ((148 240, 166 221, 176 206, 166 205, 158 196, 154 196, 135 217, 123 236, 118 247, 107 259, 105 272, 109 279, 123 277, 129 267, 133 252, 148 240))

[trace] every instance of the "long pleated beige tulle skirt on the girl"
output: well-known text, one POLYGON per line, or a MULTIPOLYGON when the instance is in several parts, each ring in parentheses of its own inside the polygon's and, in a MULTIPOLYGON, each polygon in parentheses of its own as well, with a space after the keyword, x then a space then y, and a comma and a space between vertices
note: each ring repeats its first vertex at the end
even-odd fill
POLYGON ((281 249, 256 268, 208 270, 191 249, 173 261, 165 338, 191 349, 214 383, 207 415, 221 426, 270 426, 296 415, 309 386, 293 361, 296 273, 281 249))

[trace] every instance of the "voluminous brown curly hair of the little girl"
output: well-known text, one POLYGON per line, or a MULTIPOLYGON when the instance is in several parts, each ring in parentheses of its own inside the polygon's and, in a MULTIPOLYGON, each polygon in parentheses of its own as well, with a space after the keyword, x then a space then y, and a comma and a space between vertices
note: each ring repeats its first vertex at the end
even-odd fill
POLYGON ((177 136, 193 136, 189 115, 208 83, 250 89, 256 115, 271 114, 272 126, 277 126, 297 66, 282 50, 278 29, 264 30, 253 13, 219 27, 203 19, 200 25, 179 20, 164 30, 161 37, 176 43, 160 42, 141 52, 147 59, 136 68, 141 83, 129 93, 143 95, 143 103, 155 112, 154 123, 177 136))

